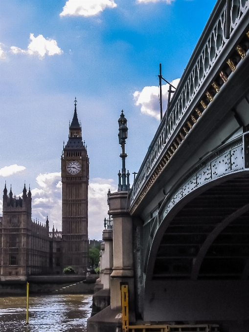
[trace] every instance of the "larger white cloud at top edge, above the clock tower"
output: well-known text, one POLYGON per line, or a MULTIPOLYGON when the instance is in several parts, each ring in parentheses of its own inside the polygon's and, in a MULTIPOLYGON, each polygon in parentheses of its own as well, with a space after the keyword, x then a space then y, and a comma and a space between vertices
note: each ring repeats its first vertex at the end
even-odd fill
POLYGON ((93 16, 107 7, 116 6, 114 0, 68 0, 60 16, 93 16))

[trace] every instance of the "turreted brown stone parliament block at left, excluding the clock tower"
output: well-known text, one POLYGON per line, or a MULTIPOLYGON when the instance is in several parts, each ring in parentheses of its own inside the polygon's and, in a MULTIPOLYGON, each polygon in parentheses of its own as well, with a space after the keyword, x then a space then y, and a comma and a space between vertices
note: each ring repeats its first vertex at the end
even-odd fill
POLYGON ((31 218, 31 191, 24 185, 22 197, 3 189, 0 217, 0 279, 26 280, 29 274, 49 273, 48 219, 45 225, 31 218), (5 278, 5 279, 4 279, 5 278))

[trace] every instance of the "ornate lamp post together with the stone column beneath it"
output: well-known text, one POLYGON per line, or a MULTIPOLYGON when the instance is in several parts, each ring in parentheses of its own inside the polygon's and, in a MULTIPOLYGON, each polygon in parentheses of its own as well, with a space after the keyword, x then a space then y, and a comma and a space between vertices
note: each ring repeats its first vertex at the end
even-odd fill
POLYGON ((128 137, 127 120, 123 110, 118 119, 119 144, 122 147, 122 174, 118 173, 118 191, 108 192, 108 214, 113 216, 113 272, 111 274, 111 308, 121 311, 121 285, 129 286, 129 317, 135 322, 135 293, 134 293, 134 267, 133 267, 133 224, 128 212, 129 207, 129 171, 126 174, 125 140, 128 137), (120 180, 122 177, 122 185, 120 180), (126 183, 127 177, 127 183, 126 183))

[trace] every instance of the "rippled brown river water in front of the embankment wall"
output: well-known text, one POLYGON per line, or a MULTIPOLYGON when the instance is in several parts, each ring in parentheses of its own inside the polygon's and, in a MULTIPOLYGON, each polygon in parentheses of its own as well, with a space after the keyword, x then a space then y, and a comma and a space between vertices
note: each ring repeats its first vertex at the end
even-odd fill
POLYGON ((0 332, 86 332, 92 295, 0 297, 0 332))

